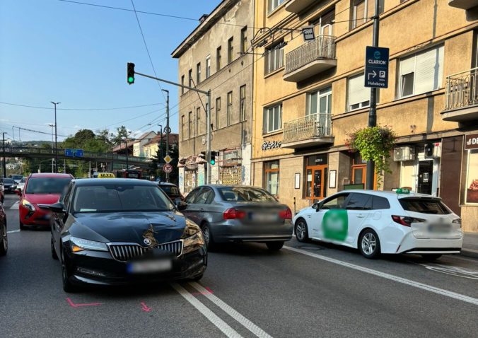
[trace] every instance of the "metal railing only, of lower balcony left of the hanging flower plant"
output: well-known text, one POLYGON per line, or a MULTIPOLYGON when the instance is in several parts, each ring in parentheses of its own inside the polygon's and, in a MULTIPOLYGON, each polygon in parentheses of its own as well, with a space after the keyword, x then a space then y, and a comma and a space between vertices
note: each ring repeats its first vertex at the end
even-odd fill
POLYGON ((332 136, 332 115, 317 113, 284 122, 284 143, 332 136))

